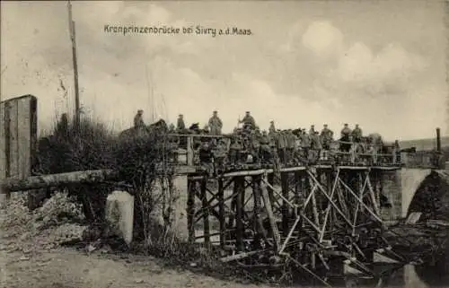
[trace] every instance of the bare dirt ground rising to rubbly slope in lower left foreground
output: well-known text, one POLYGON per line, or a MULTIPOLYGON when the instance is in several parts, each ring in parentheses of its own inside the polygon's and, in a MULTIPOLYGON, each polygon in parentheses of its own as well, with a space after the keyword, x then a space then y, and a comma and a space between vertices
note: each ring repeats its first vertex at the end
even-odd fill
MULTIPOLYGON (((0 223, 4 219, 0 209, 0 223)), ((24 225, 0 227, 1 288, 264 287, 213 278, 195 267, 167 266, 161 258, 55 247, 47 235, 36 236, 24 225)))

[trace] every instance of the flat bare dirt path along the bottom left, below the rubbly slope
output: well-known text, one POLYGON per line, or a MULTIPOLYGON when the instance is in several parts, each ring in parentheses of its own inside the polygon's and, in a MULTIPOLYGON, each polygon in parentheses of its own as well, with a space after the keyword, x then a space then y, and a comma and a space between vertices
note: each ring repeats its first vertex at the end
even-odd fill
POLYGON ((74 249, 1 251, 0 266, 4 288, 256 287, 165 268, 153 257, 88 256, 74 249))

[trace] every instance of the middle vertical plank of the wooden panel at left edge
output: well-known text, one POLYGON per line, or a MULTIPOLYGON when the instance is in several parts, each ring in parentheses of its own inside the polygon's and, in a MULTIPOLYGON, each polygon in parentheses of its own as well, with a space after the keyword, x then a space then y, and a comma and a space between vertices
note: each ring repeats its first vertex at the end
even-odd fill
POLYGON ((19 122, 17 118, 17 109, 18 109, 18 100, 11 100, 8 102, 9 109, 9 119, 6 119, 9 122, 9 177, 20 177, 19 170, 19 122))

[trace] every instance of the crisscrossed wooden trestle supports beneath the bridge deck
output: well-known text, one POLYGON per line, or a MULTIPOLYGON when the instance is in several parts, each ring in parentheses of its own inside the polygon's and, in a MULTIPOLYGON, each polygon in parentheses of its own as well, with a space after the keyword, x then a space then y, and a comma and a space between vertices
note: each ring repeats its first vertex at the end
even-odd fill
POLYGON ((380 167, 315 166, 234 171, 214 180, 191 174, 189 241, 219 245, 229 253, 225 261, 243 267, 289 261, 326 285, 328 275, 345 269, 375 277, 374 252, 403 260, 383 239, 382 173, 380 167), (218 188, 209 188, 215 180, 218 188))

